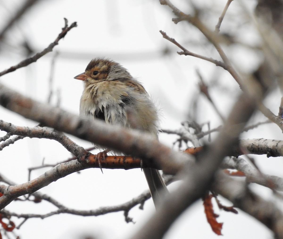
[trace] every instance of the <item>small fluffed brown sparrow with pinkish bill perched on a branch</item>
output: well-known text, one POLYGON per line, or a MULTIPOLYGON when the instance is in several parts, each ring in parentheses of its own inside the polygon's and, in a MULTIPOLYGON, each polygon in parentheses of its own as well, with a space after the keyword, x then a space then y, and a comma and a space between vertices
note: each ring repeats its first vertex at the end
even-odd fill
MULTIPOLYGON (((74 78, 84 83, 80 115, 91 115, 109 124, 137 128, 158 137, 155 105, 143 86, 121 64, 95 58, 84 73, 74 78)), ((100 155, 105 156, 107 152, 109 150, 100 155)), ((158 170, 144 168, 143 172, 156 206, 164 190, 168 191, 167 187, 158 170)))

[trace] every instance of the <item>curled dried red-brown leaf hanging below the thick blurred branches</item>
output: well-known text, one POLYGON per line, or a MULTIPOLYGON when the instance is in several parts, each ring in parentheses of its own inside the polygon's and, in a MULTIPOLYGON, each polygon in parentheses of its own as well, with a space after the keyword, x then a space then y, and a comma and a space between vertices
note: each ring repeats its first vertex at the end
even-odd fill
POLYGON ((206 215, 207 222, 209 223, 211 229, 216 235, 222 235, 222 225, 223 223, 218 223, 216 221, 216 217, 219 215, 215 214, 213 211, 213 205, 211 202, 211 198, 213 197, 212 194, 206 193, 203 197, 203 206, 204 206, 204 212, 206 215))

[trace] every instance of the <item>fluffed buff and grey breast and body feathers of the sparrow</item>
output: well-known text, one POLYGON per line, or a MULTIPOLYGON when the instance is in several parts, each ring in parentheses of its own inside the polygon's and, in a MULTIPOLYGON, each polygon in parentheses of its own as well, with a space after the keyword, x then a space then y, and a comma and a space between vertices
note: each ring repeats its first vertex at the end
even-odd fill
POLYGON ((156 108, 147 93, 134 86, 129 87, 121 81, 103 81, 85 87, 80 102, 80 114, 157 135, 156 108))

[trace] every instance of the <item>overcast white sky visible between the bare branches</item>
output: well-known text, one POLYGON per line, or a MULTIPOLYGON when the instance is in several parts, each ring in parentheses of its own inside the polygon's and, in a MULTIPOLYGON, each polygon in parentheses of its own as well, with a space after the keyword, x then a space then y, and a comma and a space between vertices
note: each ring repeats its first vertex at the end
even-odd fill
MULTIPOLYGON (((16 0, 0 1, 0 29, 20 2, 16 0)), ((185 12, 192 12, 189 1, 172 1, 185 12)), ((220 12, 226 1, 198 1, 199 6, 209 9, 205 16, 205 24, 214 29, 220 12)), ((252 10, 255 1, 248 1, 252 10)), ((247 24, 239 27, 244 20, 237 19, 240 6, 233 1, 224 19, 221 30, 232 33, 239 32, 239 40, 255 44, 258 38, 247 24), (233 21, 237 19, 237 22, 233 21)), ((227 115, 227 109, 232 105, 239 94, 239 87, 224 70, 217 68, 212 63, 205 62, 190 56, 179 56, 180 51, 172 43, 168 42, 159 33, 163 30, 171 37, 185 45, 188 50, 218 57, 209 44, 201 47, 199 43, 205 42, 201 34, 186 23, 175 25, 171 18, 174 17, 170 9, 160 5, 159 1, 150 0, 108 0, 108 1, 74 1, 74 0, 46 0, 40 1, 29 10, 19 24, 7 35, 7 41, 0 47, 1 70, 9 68, 24 59, 19 54, 18 46, 26 38, 36 51, 41 51, 55 40, 61 28, 64 26, 63 18, 69 20, 69 24, 77 21, 78 27, 72 29, 65 39, 59 42, 52 53, 40 58, 36 63, 27 68, 1 77, 1 83, 9 86, 34 99, 46 102, 48 97, 48 81, 50 77, 50 65, 55 51, 59 56, 55 62, 53 77, 53 90, 60 90, 61 108, 72 113, 79 113, 79 101, 82 93, 82 82, 73 79, 82 73, 91 60, 97 56, 105 56, 120 62, 129 72, 140 79, 145 89, 155 99, 162 112, 161 127, 164 129, 178 129, 180 122, 186 119, 192 97, 198 92, 198 77, 196 69, 199 69, 207 82, 220 78, 221 87, 225 91, 215 90, 212 97, 227 115), (162 56, 162 51, 169 48, 172 51, 162 56)), ((242 71, 251 71, 260 61, 260 56, 248 49, 238 47, 227 48, 228 56, 236 62, 242 71), (243 52, 247 52, 243 57, 243 52), (248 57, 246 57, 248 55, 248 57)), ((219 57, 218 57, 219 59, 219 57)), ((267 105, 278 111, 280 101, 279 92, 267 99, 267 105), (275 102, 276 104, 272 103, 275 102)), ((56 96, 52 104, 56 102, 56 96)), ((211 121, 211 127, 216 127, 221 120, 203 97, 200 98, 201 111, 198 112, 198 123, 211 121)), ((35 122, 23 119, 14 113, 0 108, 1 119, 16 125, 34 126, 35 122)), ((258 115, 259 120, 265 118, 258 115)), ((0 136, 4 135, 0 132, 0 136)), ((282 139, 282 133, 276 126, 268 125, 265 130, 248 132, 243 138, 271 138, 282 139)), ((90 147, 91 143, 70 137, 83 147, 90 147)), ((160 141, 172 145, 175 136, 160 135, 160 141)), ((206 139, 207 140, 207 139, 206 139)), ((66 160, 70 153, 59 143, 47 139, 23 139, 15 142, 1 152, 0 168, 8 178, 16 183, 27 181, 27 167, 37 166, 45 159, 45 163, 56 163, 66 160)), ((279 158, 258 157, 259 165, 266 173, 282 177, 282 162, 279 158), (276 165, 270 167, 270 165, 276 165), (277 170, 277 171, 276 171, 277 170)), ((44 173, 44 169, 32 173, 32 178, 44 173)), ((169 189, 177 186, 170 185, 169 189)), ((259 188, 259 186, 255 186, 259 188)), ((80 174, 74 173, 40 190, 54 197, 59 202, 74 209, 97 209, 100 206, 112 206, 121 204, 138 196, 147 189, 144 175, 140 169, 136 170, 104 170, 87 169, 80 174)), ((260 187, 261 192, 267 198, 271 192, 260 187)), ((222 199, 222 202, 230 205, 222 199)), ((216 238, 206 222, 201 201, 190 207, 170 228, 166 239, 173 238, 216 238)), ((17 212, 46 213, 55 208, 42 202, 32 203, 13 202, 7 209, 17 212)), ((123 213, 111 213, 98 217, 80 217, 72 215, 55 215, 44 220, 29 219, 19 231, 21 238, 83 238, 84 234, 97 235, 98 238, 127 238, 139 228, 149 215, 154 211, 151 200, 147 201, 144 210, 137 207, 129 213, 135 224, 125 223, 123 213)), ((218 213, 218 212, 217 212, 218 213)), ((258 223, 245 213, 238 215, 220 211, 219 222, 224 222, 222 238, 271 238, 271 232, 265 226, 258 223)), ((14 220, 19 223, 21 220, 14 220)))

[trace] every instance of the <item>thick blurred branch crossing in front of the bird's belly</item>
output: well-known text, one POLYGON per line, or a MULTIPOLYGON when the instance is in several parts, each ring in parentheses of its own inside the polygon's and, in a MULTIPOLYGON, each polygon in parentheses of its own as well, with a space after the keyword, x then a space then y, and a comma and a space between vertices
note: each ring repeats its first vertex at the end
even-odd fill
MULTIPOLYGON (((165 173, 174 174, 189 157, 164 146, 152 135, 106 125, 99 120, 81 118, 59 108, 39 103, 0 84, 0 104, 22 116, 43 123, 96 144, 128 155, 135 155, 146 162, 153 158, 165 173), (175 161, 175 160, 176 161, 175 161), (179 166, 177 166, 179 165, 179 166)), ((79 158, 84 158, 78 155, 79 158)))

